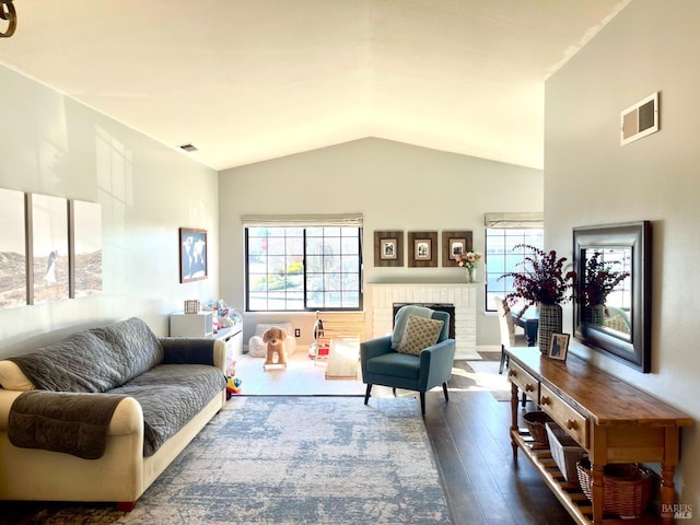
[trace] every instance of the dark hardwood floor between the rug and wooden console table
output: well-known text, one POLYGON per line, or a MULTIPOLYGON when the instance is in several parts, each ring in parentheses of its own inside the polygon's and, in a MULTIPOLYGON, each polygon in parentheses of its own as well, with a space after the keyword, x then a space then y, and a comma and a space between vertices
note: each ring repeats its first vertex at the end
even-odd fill
POLYGON ((526 457, 513 462, 509 402, 489 392, 451 392, 445 402, 432 390, 425 412, 454 525, 575 523, 526 457))

